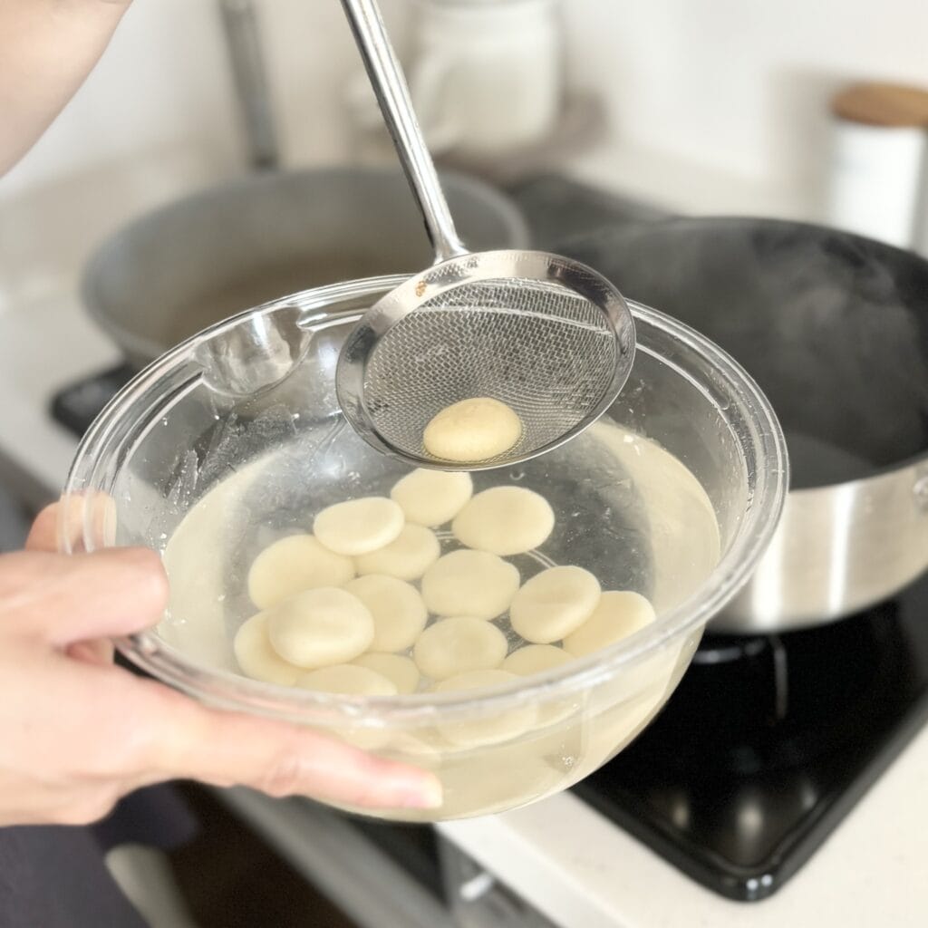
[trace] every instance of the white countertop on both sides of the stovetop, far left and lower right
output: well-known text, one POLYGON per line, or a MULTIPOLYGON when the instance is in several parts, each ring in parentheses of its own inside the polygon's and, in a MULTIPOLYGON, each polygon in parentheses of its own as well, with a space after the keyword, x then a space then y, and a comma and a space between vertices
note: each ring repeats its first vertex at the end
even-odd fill
MULTIPOLYGON (((81 311, 72 275, 61 280, 70 289, 20 289, 15 303, 0 301, 0 458, 31 474, 49 498, 77 444, 48 416, 49 399, 119 357, 81 311)), ((570 793, 441 829, 570 928, 915 928, 928 922, 918 889, 928 861, 928 728, 806 866, 754 904, 702 889, 570 793)))

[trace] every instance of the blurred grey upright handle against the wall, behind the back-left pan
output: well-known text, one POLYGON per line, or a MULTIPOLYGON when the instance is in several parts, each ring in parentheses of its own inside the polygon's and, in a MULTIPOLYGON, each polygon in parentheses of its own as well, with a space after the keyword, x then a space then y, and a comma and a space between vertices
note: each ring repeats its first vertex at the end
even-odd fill
POLYGON ((274 112, 254 6, 251 0, 220 0, 219 8, 251 167, 276 168, 279 157, 274 112))

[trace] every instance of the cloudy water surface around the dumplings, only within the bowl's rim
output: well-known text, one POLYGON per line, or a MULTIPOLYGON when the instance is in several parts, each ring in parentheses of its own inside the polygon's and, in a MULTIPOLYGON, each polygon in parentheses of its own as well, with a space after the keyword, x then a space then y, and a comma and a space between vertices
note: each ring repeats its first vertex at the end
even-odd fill
MULTIPOLYGON (((251 561, 283 535, 312 531, 316 512, 332 503, 388 496, 406 472, 340 417, 309 424, 233 472, 189 509, 164 548, 172 588, 164 636, 203 664, 234 670, 229 642, 255 612, 251 561)), ((473 479, 475 493, 523 486, 554 509, 543 548, 509 559, 522 581, 553 564, 577 564, 603 589, 648 597, 660 614, 694 593, 718 561, 718 525, 702 485, 677 458, 621 426, 599 422, 543 458, 473 479)), ((438 535, 443 553, 459 547, 447 526, 438 535)), ((522 643, 505 616, 497 621, 512 646, 522 643)))

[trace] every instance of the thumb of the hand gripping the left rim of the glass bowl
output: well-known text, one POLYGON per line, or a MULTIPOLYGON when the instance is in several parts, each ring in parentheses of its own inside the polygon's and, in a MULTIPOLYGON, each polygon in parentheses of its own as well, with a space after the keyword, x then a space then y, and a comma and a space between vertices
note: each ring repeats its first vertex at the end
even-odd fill
POLYGON ((147 548, 0 558, 0 612, 56 647, 154 625, 167 599, 161 559, 147 548))

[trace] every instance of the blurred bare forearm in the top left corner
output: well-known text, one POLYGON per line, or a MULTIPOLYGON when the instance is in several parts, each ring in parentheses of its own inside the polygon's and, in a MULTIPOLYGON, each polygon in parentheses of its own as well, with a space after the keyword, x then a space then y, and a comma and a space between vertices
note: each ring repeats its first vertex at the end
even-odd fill
POLYGON ((97 63, 131 0, 0 0, 0 174, 97 63))

